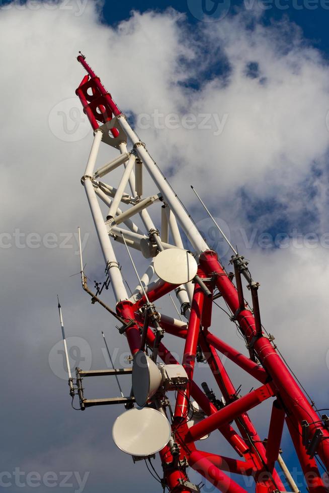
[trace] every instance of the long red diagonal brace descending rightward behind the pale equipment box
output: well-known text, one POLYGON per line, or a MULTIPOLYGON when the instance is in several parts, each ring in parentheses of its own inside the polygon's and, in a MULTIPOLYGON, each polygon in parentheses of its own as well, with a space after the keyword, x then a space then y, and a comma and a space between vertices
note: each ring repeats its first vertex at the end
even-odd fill
MULTIPOLYGON (((155 336, 149 329, 147 331, 147 341, 152 346, 154 344, 155 336)), ((174 358, 171 352, 162 343, 159 345, 158 351, 159 358, 166 365, 178 365, 178 361, 174 358)), ((200 405, 206 415, 211 416, 217 412, 216 407, 210 402, 206 395, 202 392, 200 387, 195 382, 191 385, 191 396, 200 405)), ((230 425, 224 425, 218 429, 227 442, 233 447, 233 449, 242 457, 242 455, 248 452, 249 447, 246 446, 241 437, 236 433, 234 428, 230 425)))

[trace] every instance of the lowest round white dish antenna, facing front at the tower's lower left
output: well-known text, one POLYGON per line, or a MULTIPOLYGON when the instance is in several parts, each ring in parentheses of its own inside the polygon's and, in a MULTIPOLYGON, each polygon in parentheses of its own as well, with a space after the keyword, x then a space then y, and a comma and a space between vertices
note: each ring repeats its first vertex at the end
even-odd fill
POLYGON ((150 407, 126 411, 115 420, 112 428, 116 446, 135 457, 156 454, 167 445, 171 434, 167 418, 150 407))

